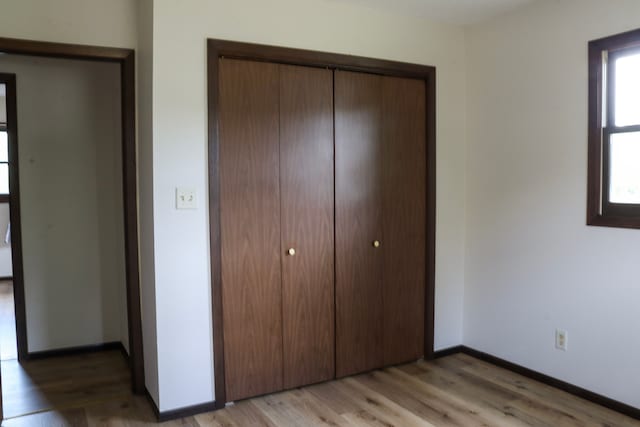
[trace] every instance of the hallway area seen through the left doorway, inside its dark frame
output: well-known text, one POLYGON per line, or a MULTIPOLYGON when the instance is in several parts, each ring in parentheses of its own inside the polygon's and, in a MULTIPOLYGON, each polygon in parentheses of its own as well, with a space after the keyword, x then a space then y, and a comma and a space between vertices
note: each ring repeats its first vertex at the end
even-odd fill
POLYGON ((128 396, 117 64, 0 55, 3 419, 128 396))

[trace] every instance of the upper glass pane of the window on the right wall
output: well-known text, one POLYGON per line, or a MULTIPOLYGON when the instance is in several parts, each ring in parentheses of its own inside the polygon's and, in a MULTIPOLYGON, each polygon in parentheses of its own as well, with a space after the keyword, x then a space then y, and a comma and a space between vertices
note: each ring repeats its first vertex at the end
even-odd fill
POLYGON ((640 53, 616 59, 615 125, 640 124, 640 53))

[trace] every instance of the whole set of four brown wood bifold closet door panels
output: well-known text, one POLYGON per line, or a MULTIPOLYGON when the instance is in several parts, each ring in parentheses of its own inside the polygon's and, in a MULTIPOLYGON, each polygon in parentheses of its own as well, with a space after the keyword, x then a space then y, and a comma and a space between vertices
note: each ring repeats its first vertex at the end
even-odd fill
POLYGON ((219 58, 226 400, 424 354, 424 80, 219 58))

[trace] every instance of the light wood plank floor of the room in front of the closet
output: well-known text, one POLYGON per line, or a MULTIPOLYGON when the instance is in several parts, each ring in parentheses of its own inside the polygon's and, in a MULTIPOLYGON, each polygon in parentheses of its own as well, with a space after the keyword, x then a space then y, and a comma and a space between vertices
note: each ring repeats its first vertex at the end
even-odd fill
MULTIPOLYGON (((150 425, 156 423, 149 403, 131 395, 2 424, 150 425)), ((458 354, 237 402, 162 426, 640 427, 640 421, 458 354)))

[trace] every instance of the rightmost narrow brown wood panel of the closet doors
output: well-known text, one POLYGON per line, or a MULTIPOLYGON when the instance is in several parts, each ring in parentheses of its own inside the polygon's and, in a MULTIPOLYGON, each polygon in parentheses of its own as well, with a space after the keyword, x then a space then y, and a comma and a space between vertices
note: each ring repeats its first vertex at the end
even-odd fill
POLYGON ((384 77, 384 364, 424 355, 425 85, 384 77))

